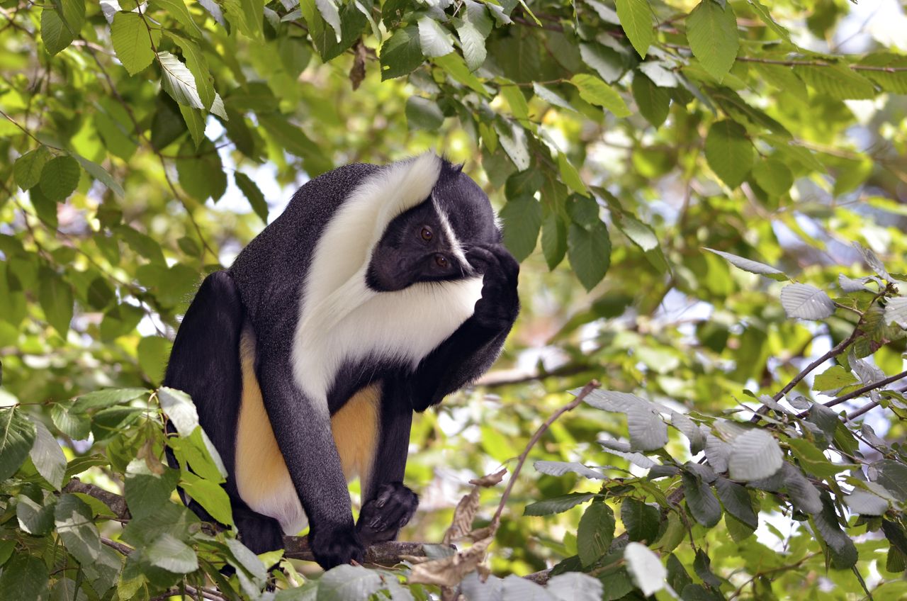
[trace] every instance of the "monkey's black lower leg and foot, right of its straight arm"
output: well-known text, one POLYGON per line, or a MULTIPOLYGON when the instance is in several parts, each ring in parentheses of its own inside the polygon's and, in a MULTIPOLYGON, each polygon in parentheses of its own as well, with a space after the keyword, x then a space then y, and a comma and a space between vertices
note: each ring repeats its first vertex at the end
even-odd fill
POLYGON ((419 505, 419 498, 403 483, 413 409, 393 380, 385 382, 381 401, 380 436, 371 470, 363 478, 363 504, 356 523, 366 546, 394 540, 419 505))

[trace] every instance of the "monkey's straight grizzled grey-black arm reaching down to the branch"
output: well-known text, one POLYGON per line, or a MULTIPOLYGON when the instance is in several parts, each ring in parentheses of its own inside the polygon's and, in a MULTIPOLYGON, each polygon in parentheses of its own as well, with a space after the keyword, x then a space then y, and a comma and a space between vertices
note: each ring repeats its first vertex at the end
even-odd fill
POLYGON ((318 405, 298 389, 288 347, 259 338, 258 381, 274 437, 308 517, 309 546, 325 569, 361 562, 365 549, 353 523, 327 402, 318 405))

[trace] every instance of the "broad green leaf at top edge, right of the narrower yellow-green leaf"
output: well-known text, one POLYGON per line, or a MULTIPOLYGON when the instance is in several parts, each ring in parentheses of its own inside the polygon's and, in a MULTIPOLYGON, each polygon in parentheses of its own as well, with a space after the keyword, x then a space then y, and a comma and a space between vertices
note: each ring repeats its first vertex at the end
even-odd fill
POLYGON ((740 40, 734 9, 727 2, 701 0, 687 17, 687 40, 699 63, 720 83, 731 70, 740 40))

